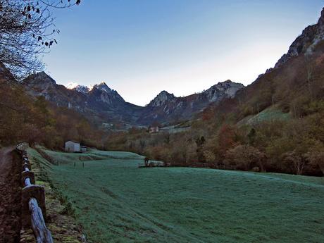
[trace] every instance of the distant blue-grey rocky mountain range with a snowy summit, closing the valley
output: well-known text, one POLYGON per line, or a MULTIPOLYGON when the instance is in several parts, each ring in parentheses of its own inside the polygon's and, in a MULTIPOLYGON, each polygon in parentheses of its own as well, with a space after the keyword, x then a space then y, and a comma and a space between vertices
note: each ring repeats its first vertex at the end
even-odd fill
POLYGON ((184 97, 162 91, 147 106, 137 106, 126 102, 105 82, 93 87, 65 87, 56 84, 49 75, 41 72, 27 77, 23 80, 23 85, 31 96, 44 96, 56 106, 75 109, 99 125, 113 127, 118 124, 124 128, 190 119, 209 104, 217 104, 225 98, 234 97, 244 87, 227 80, 218 82, 204 92, 184 97))

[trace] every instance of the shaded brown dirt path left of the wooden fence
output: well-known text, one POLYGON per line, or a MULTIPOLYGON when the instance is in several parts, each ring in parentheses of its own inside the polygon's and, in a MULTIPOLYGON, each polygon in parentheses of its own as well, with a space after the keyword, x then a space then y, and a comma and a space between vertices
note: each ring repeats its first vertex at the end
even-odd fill
POLYGON ((20 159, 0 149, 0 243, 20 241, 20 159))

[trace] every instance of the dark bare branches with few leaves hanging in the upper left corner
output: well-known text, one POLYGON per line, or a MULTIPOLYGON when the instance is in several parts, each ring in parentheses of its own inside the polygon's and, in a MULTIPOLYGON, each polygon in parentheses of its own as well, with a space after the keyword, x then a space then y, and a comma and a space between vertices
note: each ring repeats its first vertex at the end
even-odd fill
POLYGON ((44 68, 39 57, 56 44, 51 9, 80 0, 0 0, 0 62, 16 77, 44 68))

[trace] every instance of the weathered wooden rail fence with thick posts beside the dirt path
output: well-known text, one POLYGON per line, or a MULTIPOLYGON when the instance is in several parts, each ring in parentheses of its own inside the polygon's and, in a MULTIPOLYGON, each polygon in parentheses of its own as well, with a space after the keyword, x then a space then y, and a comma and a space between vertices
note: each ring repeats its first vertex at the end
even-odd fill
POLYGON ((22 159, 21 183, 22 189, 22 226, 31 227, 37 243, 53 243, 51 232, 46 228, 45 189, 35 185, 35 175, 32 172, 27 156, 27 143, 18 144, 15 149, 22 159), (45 219, 45 220, 44 220, 45 219))

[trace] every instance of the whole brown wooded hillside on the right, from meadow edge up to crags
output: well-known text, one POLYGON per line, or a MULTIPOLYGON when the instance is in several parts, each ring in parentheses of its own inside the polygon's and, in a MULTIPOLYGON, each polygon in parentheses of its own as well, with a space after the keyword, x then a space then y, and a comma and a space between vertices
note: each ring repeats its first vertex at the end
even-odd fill
POLYGON ((184 166, 201 162, 211 168, 224 164, 239 170, 323 175, 323 43, 312 56, 294 58, 259 77, 235 99, 206 109, 187 132, 150 135, 133 129, 111 134, 104 145, 184 166), (270 107, 290 118, 244 122, 270 107))

